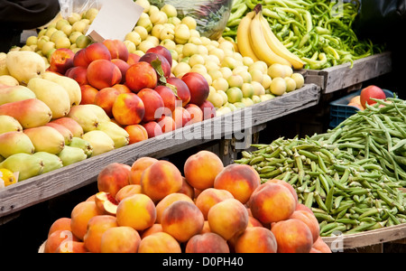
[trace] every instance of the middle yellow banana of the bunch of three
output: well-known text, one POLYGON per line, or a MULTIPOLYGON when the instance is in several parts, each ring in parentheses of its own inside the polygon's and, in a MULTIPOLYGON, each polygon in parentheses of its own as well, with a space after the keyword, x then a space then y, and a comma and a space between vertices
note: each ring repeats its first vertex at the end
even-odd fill
POLYGON ((263 34, 263 25, 260 21, 261 15, 261 11, 255 14, 254 19, 250 24, 251 45, 253 46, 255 55, 260 61, 264 61, 268 66, 271 66, 274 63, 291 66, 291 62, 277 55, 272 51, 271 47, 268 46, 268 43, 265 40, 265 35, 263 34))

